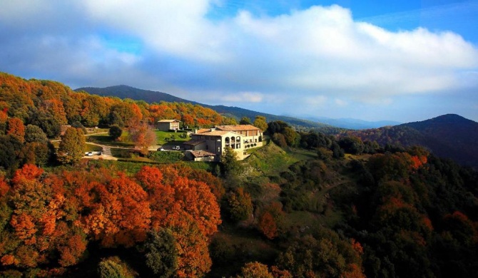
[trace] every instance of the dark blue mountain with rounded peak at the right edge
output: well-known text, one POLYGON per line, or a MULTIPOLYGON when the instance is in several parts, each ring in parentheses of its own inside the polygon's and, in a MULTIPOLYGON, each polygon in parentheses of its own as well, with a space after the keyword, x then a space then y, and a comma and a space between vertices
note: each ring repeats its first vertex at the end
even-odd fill
POLYGON ((376 140, 381 145, 423 145, 435 155, 478 169, 478 123, 460 115, 441 115, 429 120, 360 130, 352 134, 362 140, 376 140))

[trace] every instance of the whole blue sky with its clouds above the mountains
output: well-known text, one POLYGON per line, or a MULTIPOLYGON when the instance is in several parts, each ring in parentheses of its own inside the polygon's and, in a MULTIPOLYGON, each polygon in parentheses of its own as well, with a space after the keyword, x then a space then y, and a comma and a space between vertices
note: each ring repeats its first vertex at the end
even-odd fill
POLYGON ((0 71, 298 117, 478 121, 478 0, 16 0, 0 71))

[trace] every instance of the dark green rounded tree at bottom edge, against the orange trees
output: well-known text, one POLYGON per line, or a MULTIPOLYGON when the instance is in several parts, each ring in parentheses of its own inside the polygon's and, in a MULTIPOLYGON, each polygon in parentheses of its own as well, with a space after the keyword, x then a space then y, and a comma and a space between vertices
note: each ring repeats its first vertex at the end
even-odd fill
POLYGON ((151 231, 145 244, 146 265, 158 277, 174 277, 178 269, 178 250, 173 232, 168 229, 151 231))

